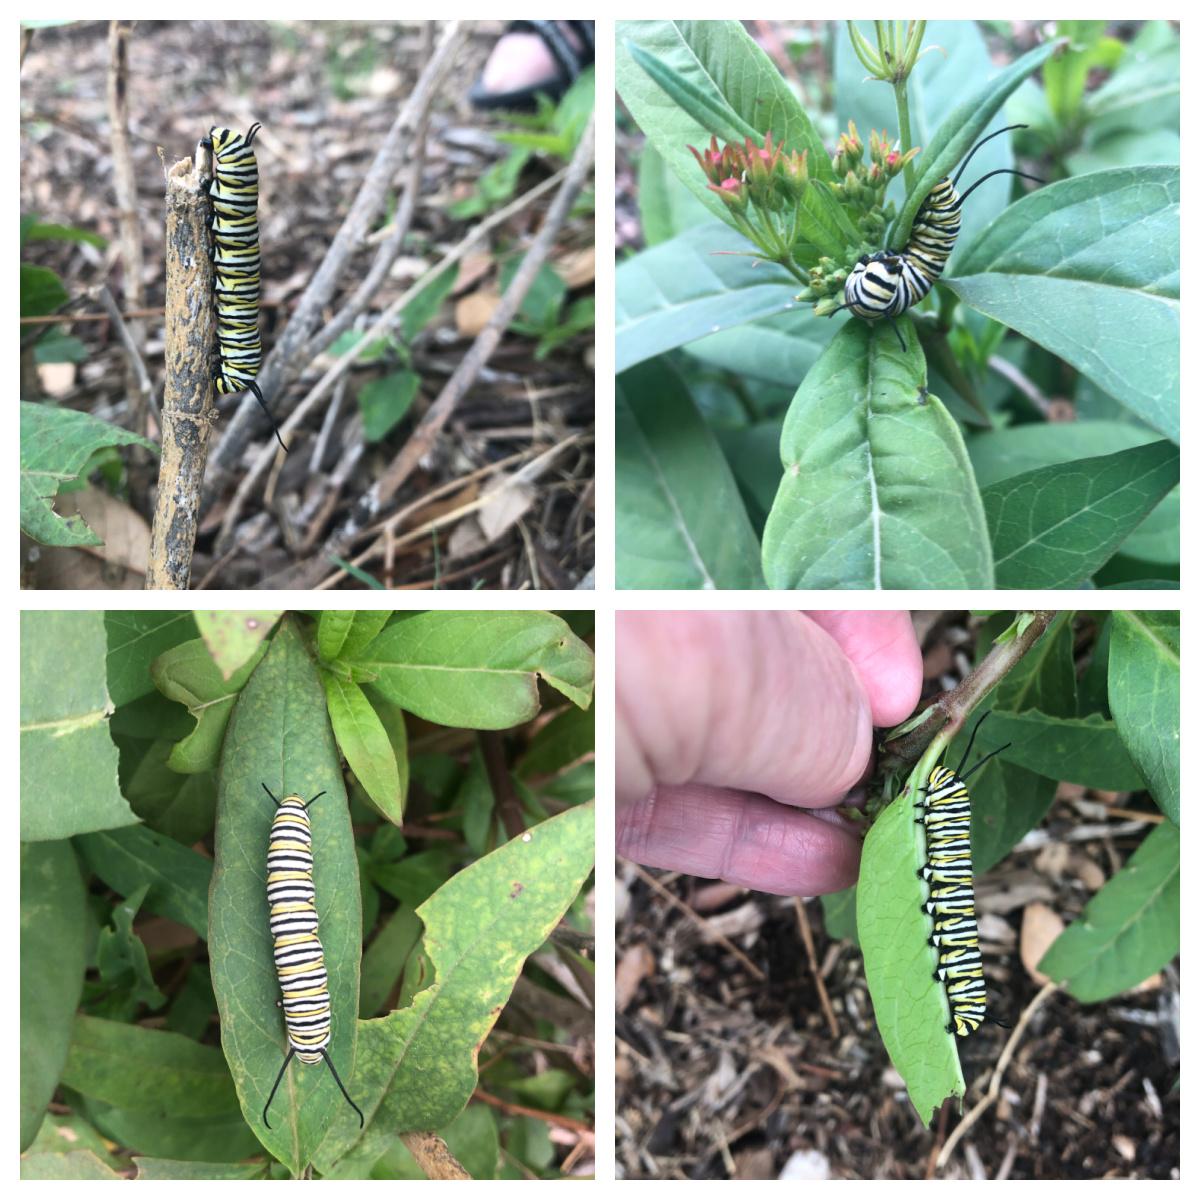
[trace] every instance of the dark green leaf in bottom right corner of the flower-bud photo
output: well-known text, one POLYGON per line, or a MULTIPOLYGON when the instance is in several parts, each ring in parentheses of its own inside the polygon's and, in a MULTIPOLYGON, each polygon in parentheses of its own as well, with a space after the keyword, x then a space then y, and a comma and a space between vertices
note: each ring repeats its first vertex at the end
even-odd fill
POLYGON ((1178 481, 1178 446, 1153 442, 992 484, 983 503, 997 584, 1080 587, 1178 481))

